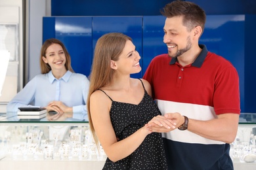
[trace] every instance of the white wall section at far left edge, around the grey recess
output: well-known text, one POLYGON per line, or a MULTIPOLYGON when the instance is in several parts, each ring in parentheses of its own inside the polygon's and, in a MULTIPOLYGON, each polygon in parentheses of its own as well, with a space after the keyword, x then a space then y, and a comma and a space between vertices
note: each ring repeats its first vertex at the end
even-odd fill
POLYGON ((7 76, 3 84, 3 91, 0 97, 0 112, 6 111, 8 101, 14 97, 16 92, 23 84, 22 67, 23 65, 23 23, 22 23, 22 0, 0 0, 0 22, 2 24, 18 24, 18 59, 9 61, 7 76))

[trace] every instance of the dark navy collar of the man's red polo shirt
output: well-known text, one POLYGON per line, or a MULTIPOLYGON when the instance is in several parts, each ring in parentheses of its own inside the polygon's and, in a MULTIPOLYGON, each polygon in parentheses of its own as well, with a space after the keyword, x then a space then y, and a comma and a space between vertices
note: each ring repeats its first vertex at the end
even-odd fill
MULTIPOLYGON (((192 66, 198 67, 198 68, 200 68, 203 65, 203 61, 206 58, 208 53, 208 50, 205 45, 199 44, 199 46, 200 48, 202 48, 202 51, 200 52, 200 54, 198 55, 194 63, 192 63, 192 66)), ((176 62, 178 62, 177 58, 171 58, 170 65, 175 64, 176 62)))

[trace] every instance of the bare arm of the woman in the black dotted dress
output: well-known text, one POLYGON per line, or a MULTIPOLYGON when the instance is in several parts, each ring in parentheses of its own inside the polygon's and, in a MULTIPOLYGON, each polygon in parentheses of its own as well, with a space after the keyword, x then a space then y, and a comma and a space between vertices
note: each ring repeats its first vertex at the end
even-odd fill
POLYGON ((147 126, 140 128, 133 135, 117 141, 110 120, 110 99, 100 91, 90 97, 91 118, 95 132, 108 158, 112 161, 121 160, 133 153, 152 131, 147 126))

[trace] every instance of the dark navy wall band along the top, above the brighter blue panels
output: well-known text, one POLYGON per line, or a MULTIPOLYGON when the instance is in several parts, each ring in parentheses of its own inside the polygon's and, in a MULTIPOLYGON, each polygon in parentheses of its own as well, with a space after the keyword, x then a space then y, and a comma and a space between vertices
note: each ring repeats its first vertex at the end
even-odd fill
MULTIPOLYGON (((51 0, 53 16, 156 16, 173 0, 51 0)), ((256 14, 255 0, 190 0, 206 14, 256 14)))

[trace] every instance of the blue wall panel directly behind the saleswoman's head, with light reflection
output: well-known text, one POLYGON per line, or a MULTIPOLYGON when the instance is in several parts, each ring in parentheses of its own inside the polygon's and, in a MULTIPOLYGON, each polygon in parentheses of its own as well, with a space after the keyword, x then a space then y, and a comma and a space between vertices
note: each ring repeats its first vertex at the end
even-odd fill
POLYGON ((93 54, 92 18, 54 17, 54 19, 54 22, 49 17, 43 19, 43 25, 47 25, 47 29, 43 30, 43 42, 49 38, 62 41, 70 53, 75 73, 89 76, 93 54), (54 33, 51 30, 54 30, 54 33))

